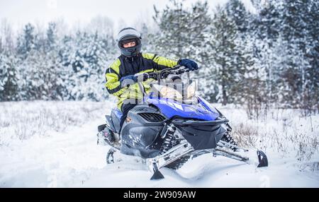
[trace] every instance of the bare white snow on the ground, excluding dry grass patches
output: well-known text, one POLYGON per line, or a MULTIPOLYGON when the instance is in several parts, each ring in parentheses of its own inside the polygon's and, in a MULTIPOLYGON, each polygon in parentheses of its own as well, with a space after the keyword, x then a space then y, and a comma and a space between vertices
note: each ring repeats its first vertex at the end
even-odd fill
MULTIPOLYGON (((318 163, 318 148, 309 159, 299 161, 296 160, 298 148, 293 149, 292 143, 286 146, 284 155, 279 154, 277 145, 272 144, 274 136, 264 145, 257 144, 266 148, 269 167, 257 168, 207 154, 186 162, 177 171, 161 169, 165 179, 150 181, 152 174, 139 158, 121 155, 122 161, 106 165, 109 147, 96 145, 96 128, 103 124, 104 114, 108 114, 113 106, 111 102, 2 102, 0 112, 11 112, 11 115, 0 117, 0 187, 319 187, 318 168, 310 171, 301 167, 305 163, 318 163), (14 112, 13 108, 20 110, 14 112), (10 123, 14 114, 20 113, 23 117, 28 112, 33 114, 34 121, 40 123, 36 111, 44 110, 50 114, 50 109, 58 108, 68 112, 70 117, 72 112, 82 117, 77 119, 79 124, 68 125, 65 129, 56 129, 52 125, 51 130, 48 126, 41 135, 35 133, 24 138, 14 130, 6 129, 14 128, 10 123), (4 120, 6 124, 3 124, 4 120)), ((234 130, 239 130, 240 123, 249 126, 266 123, 264 128, 272 126, 278 131, 284 130, 278 124, 281 119, 269 118, 250 124, 241 108, 231 105, 217 107, 228 119, 234 120, 234 130)), ((313 133, 306 133, 307 136, 318 138, 319 115, 312 117, 313 126, 310 126, 309 121, 300 117, 289 117, 291 113, 296 114, 295 111, 279 113, 290 123, 286 126, 287 131, 291 131, 294 121, 300 119, 304 122, 302 129, 314 128, 313 133)), ((59 114, 51 115, 52 119, 60 117, 59 114)), ((262 133, 264 128, 259 127, 258 132, 262 133)), ((26 126, 26 130, 30 128, 26 126)))

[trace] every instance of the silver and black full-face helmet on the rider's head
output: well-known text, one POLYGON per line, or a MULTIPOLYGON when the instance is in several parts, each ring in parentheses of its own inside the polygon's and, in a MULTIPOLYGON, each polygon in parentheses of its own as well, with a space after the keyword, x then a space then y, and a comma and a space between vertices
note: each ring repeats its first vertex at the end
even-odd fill
POLYGON ((142 43, 140 40, 142 39, 140 32, 135 30, 134 28, 124 28, 120 32, 118 32, 118 37, 116 42, 118 42, 118 47, 121 49, 121 53, 126 57, 134 57, 140 53, 140 48, 142 47, 142 43), (134 47, 124 48, 123 44, 127 42, 135 42, 134 47))

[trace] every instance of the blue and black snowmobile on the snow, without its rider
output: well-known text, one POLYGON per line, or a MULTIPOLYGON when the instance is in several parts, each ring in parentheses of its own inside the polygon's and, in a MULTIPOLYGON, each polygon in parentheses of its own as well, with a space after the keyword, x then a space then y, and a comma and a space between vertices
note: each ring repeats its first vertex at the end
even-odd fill
MULTIPOLYGON (((98 127, 98 143, 111 145, 106 162, 114 162, 116 151, 138 156, 152 172, 151 179, 164 178, 159 172, 162 167, 177 170, 188 160, 207 153, 267 167, 262 150, 240 148, 235 143, 229 120, 196 95, 196 81, 181 81, 180 75, 185 72, 184 66, 175 66, 146 76, 143 73, 142 81, 152 78, 150 93, 147 95, 142 83, 138 83, 143 99, 128 112, 121 131, 121 111, 114 108, 106 115, 106 124, 98 127), (110 133, 114 143, 106 138, 110 133)), ((140 81, 140 75, 135 76, 140 81)))

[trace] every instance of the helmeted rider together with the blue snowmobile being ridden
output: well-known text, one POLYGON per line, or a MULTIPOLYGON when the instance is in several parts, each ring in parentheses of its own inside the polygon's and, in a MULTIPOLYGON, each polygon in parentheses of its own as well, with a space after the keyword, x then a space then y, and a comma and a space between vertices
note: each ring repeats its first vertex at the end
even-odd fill
POLYGON ((268 166, 262 150, 237 145, 229 120, 196 95, 196 81, 182 81, 181 74, 198 69, 196 62, 140 53, 140 40, 135 29, 121 30, 122 54, 106 70, 106 88, 118 97, 118 108, 98 127, 97 143, 111 145, 108 164, 116 162, 116 151, 139 157, 153 173, 151 179, 164 178, 162 167, 177 170, 206 154, 268 166))

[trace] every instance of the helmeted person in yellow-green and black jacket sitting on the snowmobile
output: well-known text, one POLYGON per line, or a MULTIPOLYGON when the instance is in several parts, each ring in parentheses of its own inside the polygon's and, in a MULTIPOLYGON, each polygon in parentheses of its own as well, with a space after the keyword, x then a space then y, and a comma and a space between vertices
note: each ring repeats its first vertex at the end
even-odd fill
MULTIPOLYGON (((140 92, 137 83, 138 78, 135 74, 160 71, 162 69, 173 68, 177 65, 185 66, 189 71, 198 69, 196 62, 190 59, 175 61, 160 57, 157 54, 140 52, 142 47, 141 39, 140 32, 134 28, 123 28, 118 33, 116 39, 118 47, 121 50, 121 56, 106 69, 106 89, 108 93, 118 98, 118 109, 123 113, 120 126, 123 126, 130 109, 138 105, 139 100, 142 99, 143 93, 140 92)), ((142 85, 145 93, 148 93, 150 86, 147 84, 147 81, 142 82, 142 85)), ((103 125, 100 127, 104 128, 103 125)), ((106 134, 106 141, 111 144, 116 141, 112 131, 106 134)))

